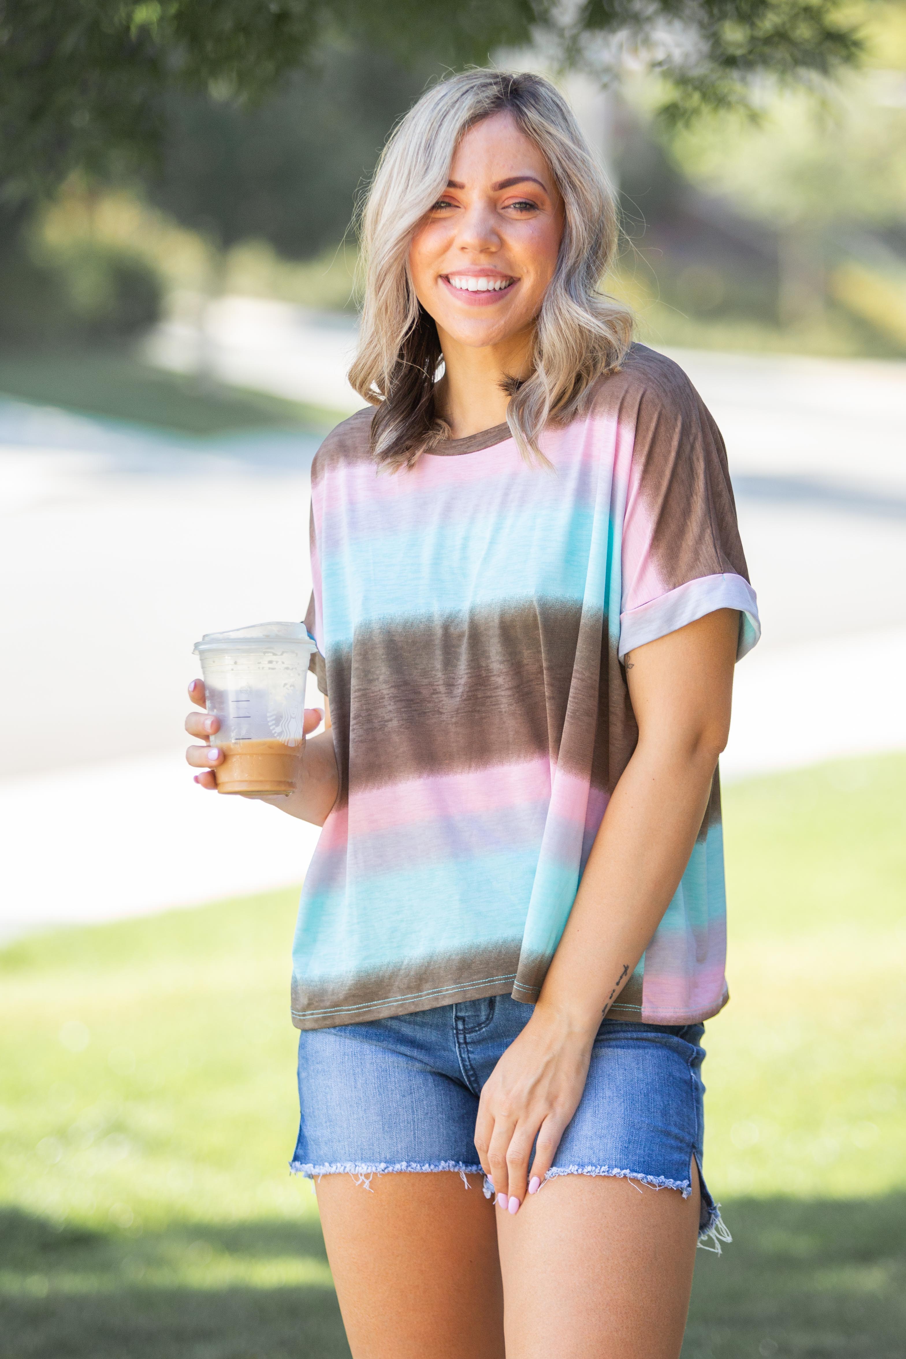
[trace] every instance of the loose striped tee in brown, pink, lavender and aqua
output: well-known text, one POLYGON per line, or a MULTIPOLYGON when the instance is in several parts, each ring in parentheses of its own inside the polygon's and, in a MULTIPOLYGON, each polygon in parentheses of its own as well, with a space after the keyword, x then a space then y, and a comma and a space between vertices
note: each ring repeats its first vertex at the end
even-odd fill
MULTIPOLYGON (((312 669, 340 794, 302 892, 300 1029, 479 996, 538 998, 636 746, 623 656, 714 609, 758 640, 724 444, 675 363, 634 345, 553 470, 505 424, 379 470, 372 410, 311 478, 312 669)), ((611 1014, 727 1000, 720 790, 611 1014)))

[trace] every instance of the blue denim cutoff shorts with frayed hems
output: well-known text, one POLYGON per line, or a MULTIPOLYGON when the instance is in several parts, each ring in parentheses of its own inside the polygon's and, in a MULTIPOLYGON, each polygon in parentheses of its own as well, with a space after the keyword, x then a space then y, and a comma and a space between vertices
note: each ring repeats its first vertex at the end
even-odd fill
MULTIPOLYGON (((458 1170, 481 1174, 474 1133, 481 1089, 526 1026, 512 996, 299 1034, 297 1174, 458 1170)), ((701 1181, 700 1245, 729 1239, 701 1176, 704 1025, 604 1019, 585 1090, 547 1178, 615 1176, 691 1193, 701 1181)), ((493 1185, 485 1182, 490 1196, 493 1185)))

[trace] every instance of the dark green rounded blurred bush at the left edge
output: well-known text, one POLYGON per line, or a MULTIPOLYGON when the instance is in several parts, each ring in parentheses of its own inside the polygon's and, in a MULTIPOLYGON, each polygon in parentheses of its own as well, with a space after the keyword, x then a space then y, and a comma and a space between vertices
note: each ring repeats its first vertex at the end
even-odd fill
POLYGON ((0 348, 110 345, 160 315, 163 284, 147 260, 106 241, 49 247, 20 236, 0 255, 0 348))

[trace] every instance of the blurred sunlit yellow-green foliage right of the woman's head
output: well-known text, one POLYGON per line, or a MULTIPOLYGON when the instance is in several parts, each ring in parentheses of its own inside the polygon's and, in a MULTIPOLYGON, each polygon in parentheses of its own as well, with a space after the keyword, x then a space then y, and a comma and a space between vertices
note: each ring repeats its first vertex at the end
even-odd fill
POLYGON ((906 355, 906 7, 863 20, 861 71, 808 94, 765 82, 757 117, 666 128, 656 80, 623 82, 613 289, 648 338, 906 355))

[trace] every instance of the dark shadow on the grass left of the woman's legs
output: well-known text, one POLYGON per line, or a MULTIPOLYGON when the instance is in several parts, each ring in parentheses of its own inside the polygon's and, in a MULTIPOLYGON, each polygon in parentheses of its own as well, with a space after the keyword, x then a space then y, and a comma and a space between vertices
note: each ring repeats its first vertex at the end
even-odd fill
POLYGON ((3 1359, 349 1359, 316 1222, 179 1223, 141 1237, 0 1212, 3 1359), (217 1283, 302 1264, 312 1283, 217 1283), (183 1277, 181 1279, 181 1273, 183 1277))

